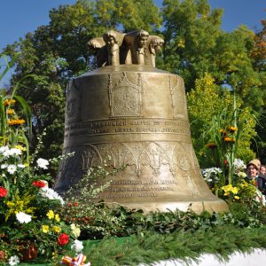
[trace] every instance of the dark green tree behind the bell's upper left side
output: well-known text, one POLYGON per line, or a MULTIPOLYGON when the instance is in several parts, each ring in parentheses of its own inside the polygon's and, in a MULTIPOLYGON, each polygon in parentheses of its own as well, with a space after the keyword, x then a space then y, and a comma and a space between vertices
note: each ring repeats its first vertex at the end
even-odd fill
MULTIPOLYGON (((11 57, 20 51, 12 83, 25 74, 34 75, 18 93, 32 106, 35 136, 46 129, 44 158, 61 153, 66 83, 95 67, 88 41, 111 27, 125 31, 143 27, 153 34, 161 22, 152 0, 80 0, 52 9, 50 19, 49 25, 38 27, 4 50, 11 57)), ((34 139, 31 145, 35 146, 34 139)))

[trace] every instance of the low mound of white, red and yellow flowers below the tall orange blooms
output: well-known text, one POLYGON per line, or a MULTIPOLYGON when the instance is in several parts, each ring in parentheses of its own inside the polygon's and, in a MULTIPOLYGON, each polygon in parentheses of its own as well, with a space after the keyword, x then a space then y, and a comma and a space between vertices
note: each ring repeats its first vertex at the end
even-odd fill
POLYGON ((0 250, 15 265, 29 259, 25 246, 35 248, 35 256, 57 259, 78 237, 59 216, 64 200, 48 187, 51 180, 48 160, 27 166, 23 152, 8 145, 0 147, 0 250), (68 245, 68 246, 69 246, 68 245))

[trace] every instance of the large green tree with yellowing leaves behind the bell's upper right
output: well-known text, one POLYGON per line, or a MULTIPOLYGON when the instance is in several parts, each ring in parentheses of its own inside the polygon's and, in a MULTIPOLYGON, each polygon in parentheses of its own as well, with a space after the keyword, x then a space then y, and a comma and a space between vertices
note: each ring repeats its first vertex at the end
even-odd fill
MULTIPOLYGON (((223 11, 211 11, 207 0, 166 0, 163 2, 165 50, 163 68, 180 74, 186 90, 195 80, 210 73, 218 85, 233 86, 248 105, 262 106, 260 97, 250 100, 251 90, 259 93, 262 77, 249 54, 254 32, 239 27, 232 33, 220 28, 223 11)), ((254 96, 254 95, 253 95, 254 96)))

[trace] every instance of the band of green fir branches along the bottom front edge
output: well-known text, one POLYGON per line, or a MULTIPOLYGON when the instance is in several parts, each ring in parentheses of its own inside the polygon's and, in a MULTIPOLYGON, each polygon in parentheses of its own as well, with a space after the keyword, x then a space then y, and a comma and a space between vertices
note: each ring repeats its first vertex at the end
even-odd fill
MULTIPOLYGON (((178 232, 160 235, 147 232, 144 236, 124 239, 83 241, 83 253, 94 265, 137 265, 161 260, 179 259, 190 264, 198 262, 200 254, 213 254, 219 262, 228 262, 234 252, 249 253, 252 248, 265 248, 265 227, 239 229, 233 225, 210 231, 178 232)), ((244 254, 243 254, 244 255, 244 254)), ((21 263, 41 266, 45 263, 21 263)))

